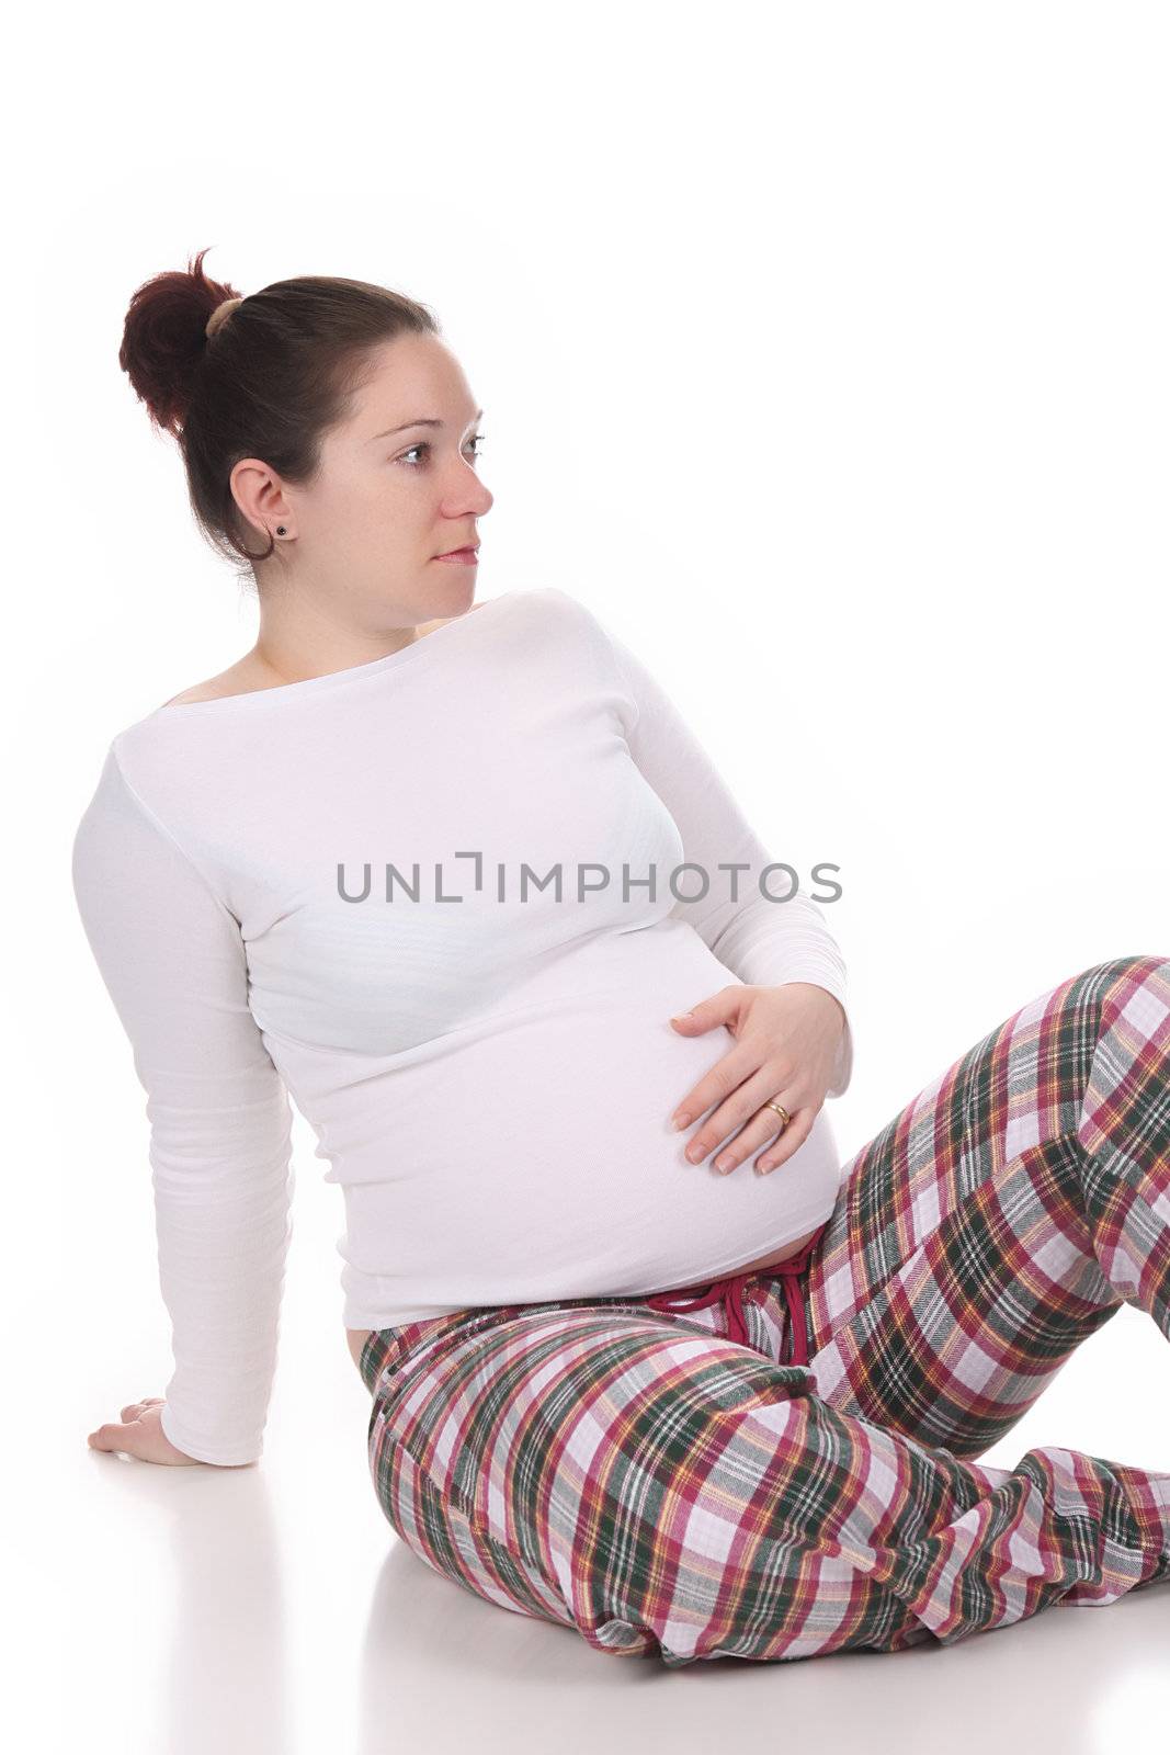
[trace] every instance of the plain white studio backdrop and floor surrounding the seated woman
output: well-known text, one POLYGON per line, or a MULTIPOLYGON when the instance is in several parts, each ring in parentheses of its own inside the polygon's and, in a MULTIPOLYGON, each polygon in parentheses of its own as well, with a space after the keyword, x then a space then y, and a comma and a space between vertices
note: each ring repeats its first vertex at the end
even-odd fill
MULTIPOLYGON (((902 1750, 1009 1716, 1121 1750, 1166 1722, 1159 1587, 907 1662, 668 1676, 428 1574, 367 1479, 340 1197, 300 1121, 260 1467, 88 1451, 170 1351, 144 1099, 68 881, 111 737, 254 637, 118 365, 135 286, 210 244, 242 293, 344 274, 432 305, 486 411, 477 595, 581 597, 775 856, 840 865, 842 1155, 1026 1000, 1170 955, 1166 47, 1165 9, 1119 0, 32 26, 7 154, 5 1362, 40 1746, 698 1750, 784 1711, 844 1748, 879 1699, 902 1750)), ((1033 1444, 1170 1471, 1149 1316, 1121 1309, 982 1460, 1033 1444)))

